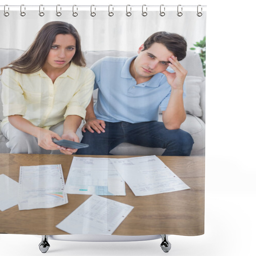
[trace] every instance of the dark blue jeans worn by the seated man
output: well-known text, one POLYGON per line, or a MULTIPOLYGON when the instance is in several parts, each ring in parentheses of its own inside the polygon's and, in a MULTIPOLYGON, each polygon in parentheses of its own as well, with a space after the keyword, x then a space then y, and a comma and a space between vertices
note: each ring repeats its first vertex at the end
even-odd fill
POLYGON ((151 148, 166 148, 163 156, 189 156, 194 140, 183 130, 167 130, 163 122, 105 122, 105 132, 83 132, 82 143, 88 148, 78 149, 77 155, 111 155, 109 151, 122 142, 151 148))

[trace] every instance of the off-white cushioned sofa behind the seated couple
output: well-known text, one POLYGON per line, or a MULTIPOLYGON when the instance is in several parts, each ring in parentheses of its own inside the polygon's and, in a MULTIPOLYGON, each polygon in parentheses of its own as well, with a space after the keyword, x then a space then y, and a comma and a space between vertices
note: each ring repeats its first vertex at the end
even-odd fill
MULTIPOLYGON (((17 49, 0 49, 0 67, 8 65, 12 60, 17 59, 24 51, 17 49)), ((84 57, 87 67, 105 56, 127 56, 132 57, 136 52, 125 51, 87 51, 84 57)), ((198 54, 187 52, 187 57, 180 61, 184 68, 188 70, 186 77, 186 98, 184 100, 187 118, 181 124, 181 129, 189 132, 194 139, 191 156, 204 156, 205 153, 205 77, 201 60, 198 54)), ((0 81, 0 92, 2 84, 0 81)), ((93 93, 94 100, 97 100, 96 90, 93 93)), ((0 101, 0 122, 3 120, 2 101, 0 101)), ((159 111, 159 121, 162 121, 162 114, 159 111)), ((0 152, 9 153, 6 147, 8 140, 0 132, 0 152)), ((130 143, 121 143, 110 151, 113 155, 162 155, 163 148, 146 148, 132 145, 130 143)))

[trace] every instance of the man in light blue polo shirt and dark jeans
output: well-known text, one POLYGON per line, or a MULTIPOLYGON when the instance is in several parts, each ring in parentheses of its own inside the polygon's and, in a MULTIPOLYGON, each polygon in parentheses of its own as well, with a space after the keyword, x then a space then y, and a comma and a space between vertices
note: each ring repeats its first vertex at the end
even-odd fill
POLYGON ((109 155, 122 142, 166 148, 163 156, 189 156, 193 139, 180 130, 186 119, 183 83, 187 75, 179 63, 186 57, 185 39, 156 32, 142 44, 138 56, 98 60, 94 89, 98 100, 86 108, 82 143, 76 154, 109 155), (167 69, 167 70, 166 70, 167 69), (157 122, 158 109, 163 122, 157 122))

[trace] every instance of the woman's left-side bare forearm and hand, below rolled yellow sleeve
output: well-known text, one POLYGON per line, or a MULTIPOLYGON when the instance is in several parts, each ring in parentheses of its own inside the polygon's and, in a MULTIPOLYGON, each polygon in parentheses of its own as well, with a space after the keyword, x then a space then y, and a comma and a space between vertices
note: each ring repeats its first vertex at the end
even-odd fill
POLYGON ((57 150, 60 146, 52 142, 52 138, 61 140, 60 136, 52 131, 45 130, 41 127, 35 126, 27 119, 20 115, 8 116, 8 120, 12 126, 22 132, 26 132, 37 138, 38 146, 47 150, 57 150))

